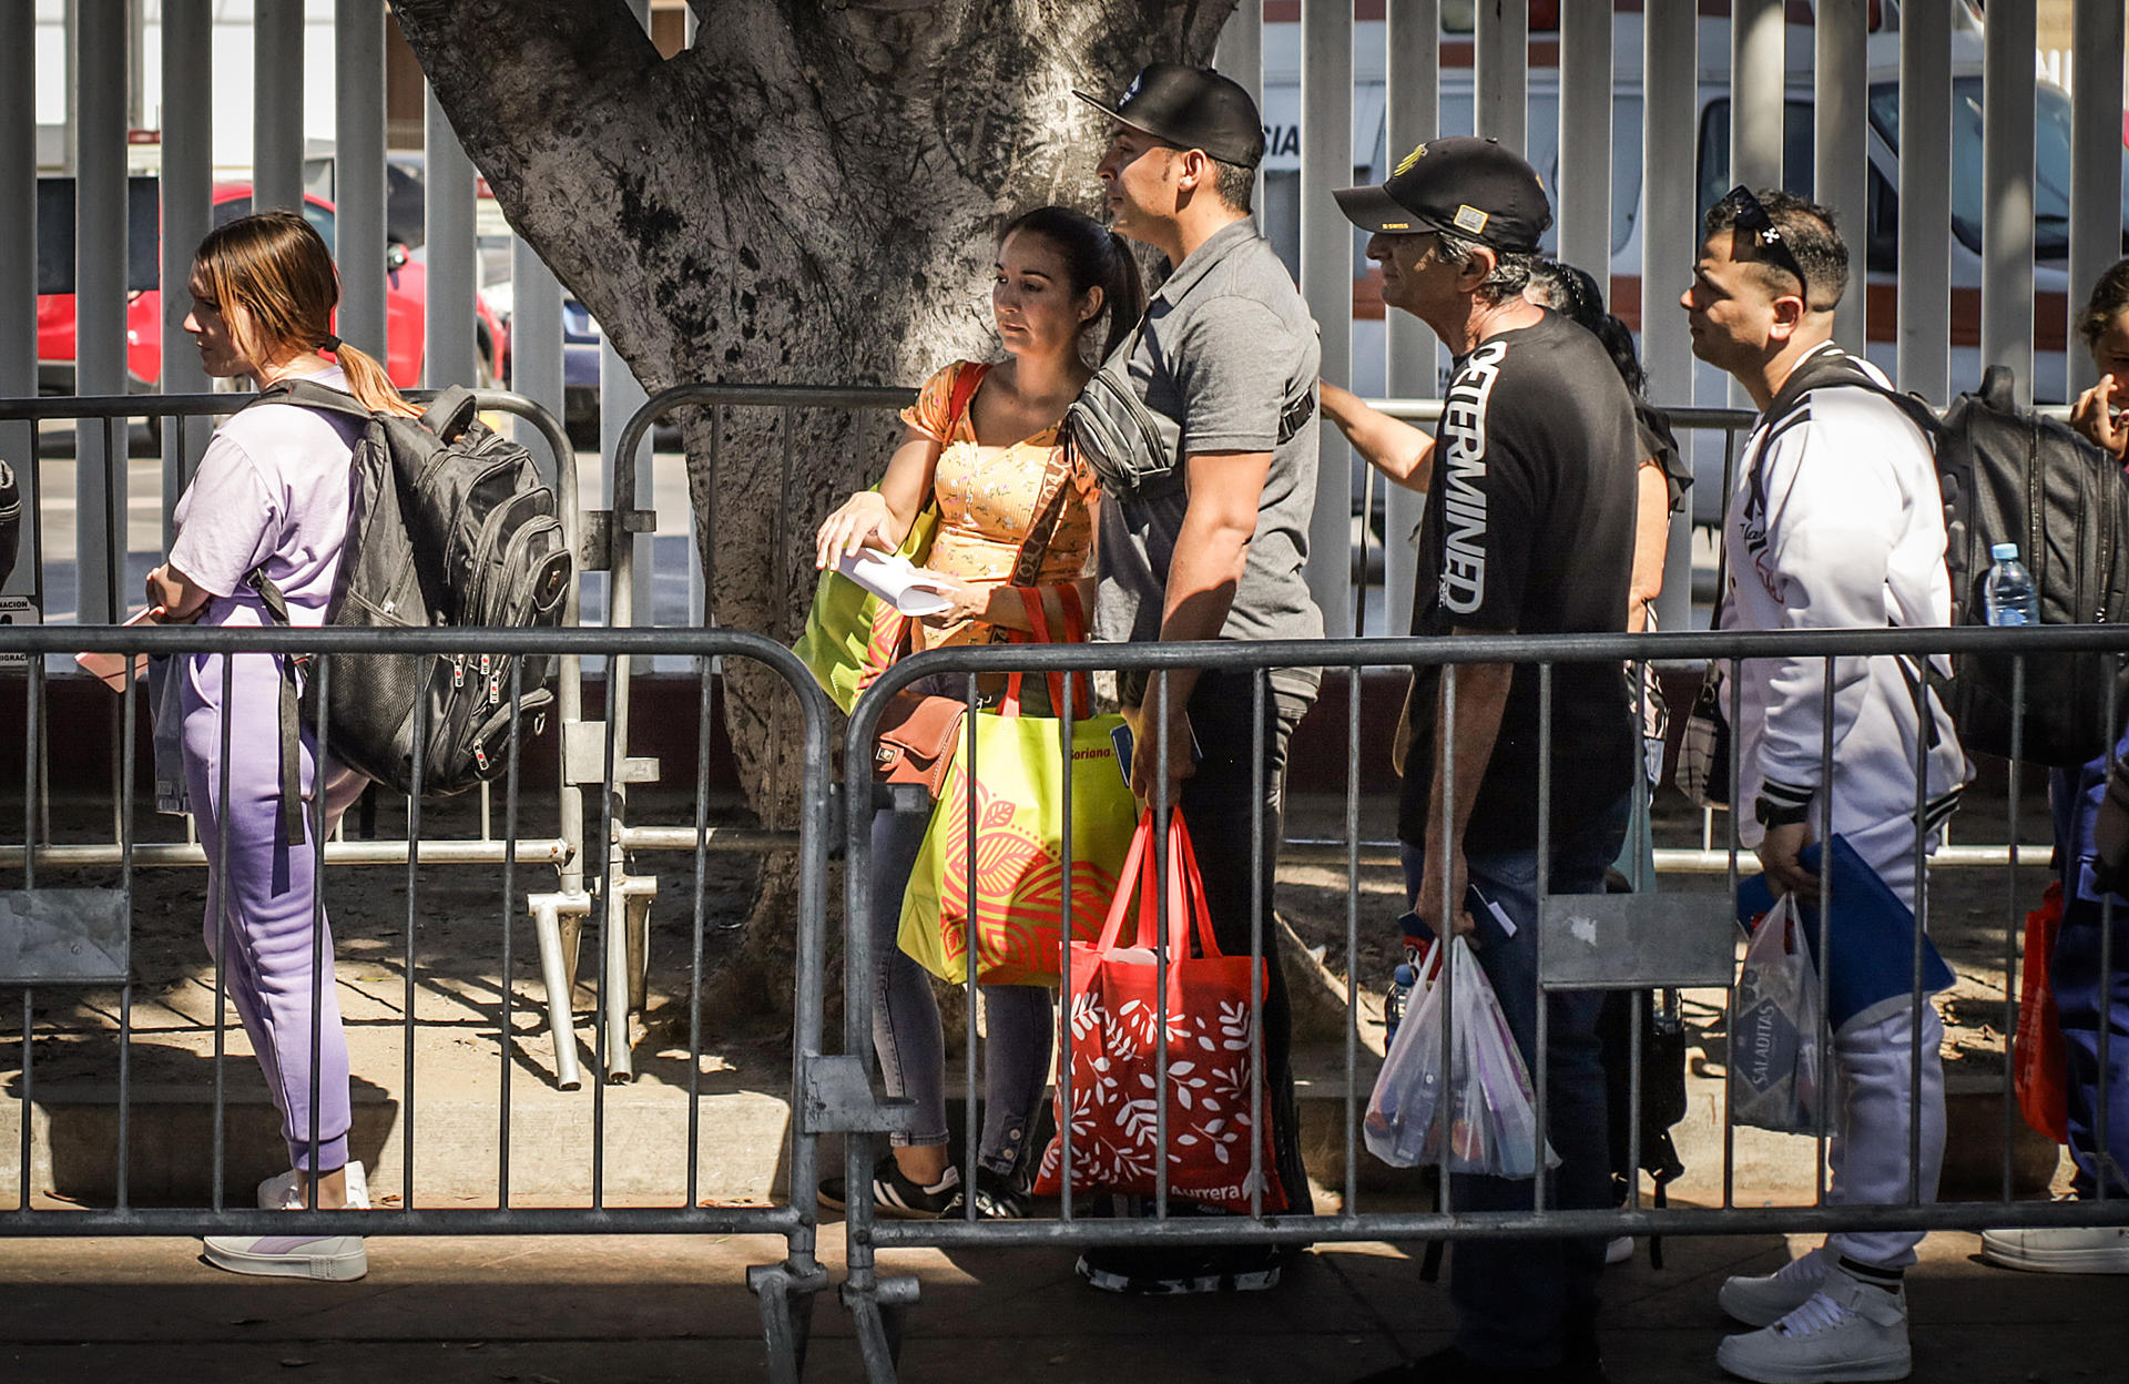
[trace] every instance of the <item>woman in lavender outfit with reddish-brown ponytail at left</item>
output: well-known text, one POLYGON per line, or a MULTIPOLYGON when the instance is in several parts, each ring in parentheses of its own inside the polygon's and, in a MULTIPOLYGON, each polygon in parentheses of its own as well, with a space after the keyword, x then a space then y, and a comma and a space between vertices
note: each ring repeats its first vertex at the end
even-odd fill
MULTIPOLYGON (((189 290, 185 330, 209 375, 249 379, 262 390, 309 379, 353 394, 370 411, 419 413, 383 366, 332 334, 339 277, 326 243, 300 215, 270 211, 209 232, 189 290)), ((262 569, 281 588, 290 624, 324 624, 347 541, 358 428, 356 419, 298 405, 264 402, 230 417, 177 502, 168 560, 147 577, 160 620, 264 628, 273 620, 247 586, 247 575, 262 569)), ((332 933, 324 930, 315 948, 311 935, 311 813, 302 818, 304 839, 290 839, 281 824, 279 658, 192 654, 177 677, 185 786, 209 860, 207 948, 224 962, 287 1141, 290 1171, 260 1184, 260 1205, 368 1207, 362 1165, 347 1158, 347 1035, 332 979, 332 933), (313 975, 319 969, 321 982, 313 975), (315 1016, 313 986, 321 994, 315 1016)), ((330 835, 368 779, 332 758, 319 762, 309 730, 300 756, 304 801, 324 794, 330 835)), ((207 1261, 290 1278, 353 1280, 368 1271, 353 1235, 217 1235, 207 1241, 207 1261)))

